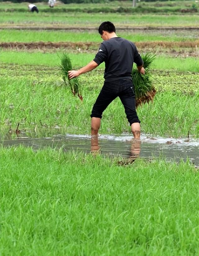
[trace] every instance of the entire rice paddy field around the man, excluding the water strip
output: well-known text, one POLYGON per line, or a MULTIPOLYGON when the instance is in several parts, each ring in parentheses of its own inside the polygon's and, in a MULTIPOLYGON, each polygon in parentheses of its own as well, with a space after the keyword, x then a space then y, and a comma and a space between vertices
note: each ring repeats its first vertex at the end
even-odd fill
MULTIPOLYGON (((94 59, 97 27, 110 20, 141 53, 156 54, 153 102, 137 109, 141 133, 199 138, 199 3, 1 2, 0 131, 90 134, 104 64, 79 77, 83 101, 64 85, 59 56, 75 69, 94 59), (49 11, 50 9, 50 11, 49 11), (142 12, 139 11, 142 9, 142 12), (105 11, 104 11, 105 10, 105 11), (185 10, 185 11, 184 11, 185 10)), ((116 99, 100 134, 130 134, 116 99)), ((198 167, 164 158, 93 156, 63 148, 0 145, 0 255, 199 255, 198 167)))

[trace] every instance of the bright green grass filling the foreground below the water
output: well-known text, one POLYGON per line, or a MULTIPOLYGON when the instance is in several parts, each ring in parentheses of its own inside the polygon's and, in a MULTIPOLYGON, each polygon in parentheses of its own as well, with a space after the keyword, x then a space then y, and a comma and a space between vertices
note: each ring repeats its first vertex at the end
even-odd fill
POLYGON ((188 162, 0 149, 3 255, 197 256, 199 172, 188 162))

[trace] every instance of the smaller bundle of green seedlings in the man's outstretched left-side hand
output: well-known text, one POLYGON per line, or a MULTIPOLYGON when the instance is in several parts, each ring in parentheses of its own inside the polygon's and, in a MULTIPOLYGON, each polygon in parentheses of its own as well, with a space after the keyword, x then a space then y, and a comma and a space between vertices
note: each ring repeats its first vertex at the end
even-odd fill
POLYGON ((74 78, 74 79, 68 78, 68 71, 73 69, 69 56, 64 53, 62 56, 60 56, 60 59, 61 59, 61 64, 59 64, 58 66, 61 69, 62 79, 63 79, 64 83, 67 85, 67 87, 68 86, 70 87, 72 94, 74 96, 77 94, 78 97, 82 101, 83 97, 81 96, 81 89, 80 89, 80 84, 79 84, 78 79, 77 78, 74 78))

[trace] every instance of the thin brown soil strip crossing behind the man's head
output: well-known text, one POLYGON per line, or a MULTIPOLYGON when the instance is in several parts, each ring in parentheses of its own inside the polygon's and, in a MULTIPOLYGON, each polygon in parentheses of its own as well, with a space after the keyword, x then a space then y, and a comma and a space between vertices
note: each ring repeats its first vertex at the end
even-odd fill
MULTIPOLYGON (((65 26, 1 26, 1 29, 28 29, 28 30, 98 30, 98 27, 65 27, 65 26)), ((117 30, 199 30, 199 27, 174 27, 174 26, 158 26, 158 27, 151 27, 151 26, 123 26, 117 27, 117 30)))

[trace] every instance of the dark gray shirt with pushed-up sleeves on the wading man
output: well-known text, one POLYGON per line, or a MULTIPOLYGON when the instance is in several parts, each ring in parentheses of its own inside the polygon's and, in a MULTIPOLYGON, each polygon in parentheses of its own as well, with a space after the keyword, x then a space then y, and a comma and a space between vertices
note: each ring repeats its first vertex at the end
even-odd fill
POLYGON ((107 82, 123 78, 132 79, 133 62, 138 66, 143 65, 134 43, 121 37, 103 41, 94 61, 98 65, 105 62, 104 79, 107 82))

